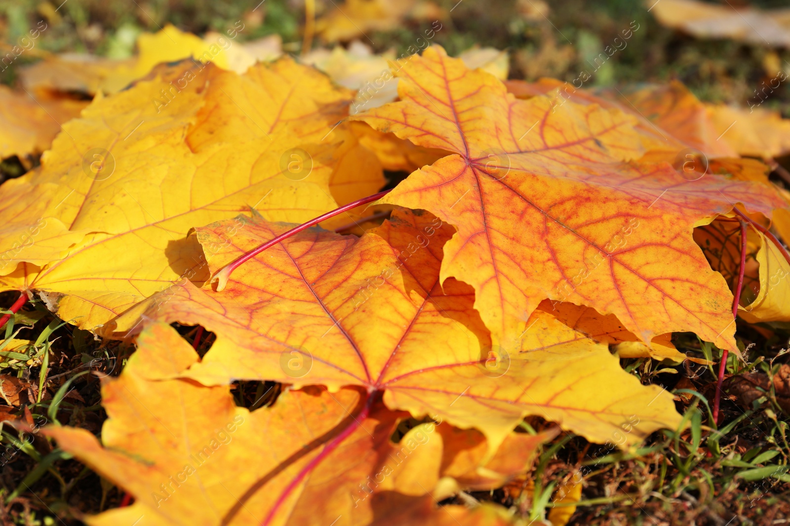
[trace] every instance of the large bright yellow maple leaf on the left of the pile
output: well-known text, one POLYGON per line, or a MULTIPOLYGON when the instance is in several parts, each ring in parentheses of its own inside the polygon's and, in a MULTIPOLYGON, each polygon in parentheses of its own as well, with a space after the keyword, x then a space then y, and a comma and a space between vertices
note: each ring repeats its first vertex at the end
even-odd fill
POLYGON ((337 207, 332 192, 380 188, 375 156, 332 131, 350 96, 284 58, 244 76, 164 65, 97 97, 39 170, 0 188, 2 286, 100 330, 181 277, 207 277, 193 226, 250 207, 301 222, 337 207))

